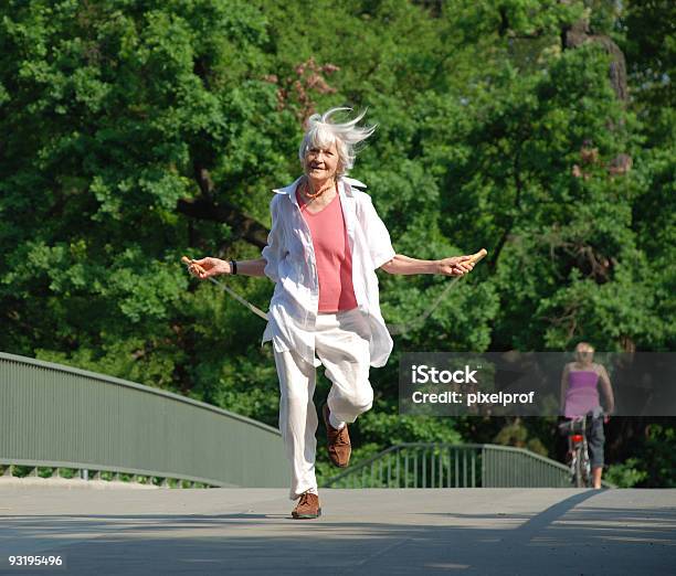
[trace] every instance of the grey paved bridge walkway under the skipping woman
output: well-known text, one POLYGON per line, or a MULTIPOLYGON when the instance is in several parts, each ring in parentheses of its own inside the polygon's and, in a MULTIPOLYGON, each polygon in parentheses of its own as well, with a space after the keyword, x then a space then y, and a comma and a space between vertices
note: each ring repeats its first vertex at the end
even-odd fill
POLYGON ((0 574, 676 574, 676 490, 0 487, 0 574), (9 555, 66 568, 10 568, 9 555))

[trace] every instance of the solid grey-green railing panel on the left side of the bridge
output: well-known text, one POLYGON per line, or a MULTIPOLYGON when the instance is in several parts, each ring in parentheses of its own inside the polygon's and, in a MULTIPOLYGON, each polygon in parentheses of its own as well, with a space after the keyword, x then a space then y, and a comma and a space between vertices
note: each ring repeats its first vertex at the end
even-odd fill
POLYGON ((289 479, 276 428, 158 388, 6 353, 0 465, 214 487, 286 487, 289 479))

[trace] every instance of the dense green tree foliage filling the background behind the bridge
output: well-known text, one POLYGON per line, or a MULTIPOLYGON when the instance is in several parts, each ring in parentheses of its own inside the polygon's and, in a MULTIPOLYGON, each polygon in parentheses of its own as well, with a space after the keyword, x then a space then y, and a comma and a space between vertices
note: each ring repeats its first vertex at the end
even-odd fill
MULTIPOLYGON (((362 454, 461 435, 556 454, 549 420, 400 418, 399 355, 581 339, 674 349, 675 40, 663 4, 4 2, 0 349, 275 425, 263 322, 179 259, 257 257, 270 189, 298 174, 303 120, 369 107, 378 130, 353 174, 397 250, 489 256, 373 372, 362 454)), ((447 282, 380 280, 392 323, 419 318, 447 282)), ((270 281, 228 281, 265 308, 270 281)), ((625 468, 666 482, 649 466, 625 468)))

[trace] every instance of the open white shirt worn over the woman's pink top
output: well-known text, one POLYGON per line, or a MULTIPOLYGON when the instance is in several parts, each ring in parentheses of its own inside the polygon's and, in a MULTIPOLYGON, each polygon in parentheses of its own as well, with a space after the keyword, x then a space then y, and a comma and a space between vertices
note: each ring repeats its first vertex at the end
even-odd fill
MULTIPOLYGON (((274 190, 270 203, 272 230, 262 256, 265 275, 275 282, 267 326, 261 345, 272 340, 277 352, 294 350, 318 366, 315 359, 315 322, 319 281, 309 227, 300 214, 296 186, 274 190)), ((394 257, 390 234, 378 216, 371 196, 357 186, 366 184, 351 178, 338 180, 338 193, 352 256, 352 286, 358 309, 371 328, 370 365, 383 366, 392 352, 392 338, 380 313, 376 269, 394 257)))

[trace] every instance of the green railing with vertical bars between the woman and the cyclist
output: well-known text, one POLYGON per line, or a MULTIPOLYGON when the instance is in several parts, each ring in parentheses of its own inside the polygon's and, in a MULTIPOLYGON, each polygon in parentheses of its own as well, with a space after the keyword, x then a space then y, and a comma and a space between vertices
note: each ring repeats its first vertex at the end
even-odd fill
POLYGON ((570 488, 567 466, 489 444, 400 444, 357 462, 325 488, 570 488))

